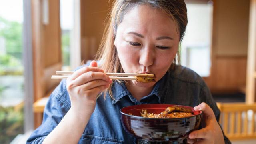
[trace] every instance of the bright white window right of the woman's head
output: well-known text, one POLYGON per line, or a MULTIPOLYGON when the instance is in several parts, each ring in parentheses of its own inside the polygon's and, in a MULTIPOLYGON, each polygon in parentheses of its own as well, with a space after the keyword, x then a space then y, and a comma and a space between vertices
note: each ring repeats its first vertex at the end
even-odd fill
POLYGON ((181 44, 181 64, 200 76, 210 75, 213 2, 186 0, 188 25, 181 44))

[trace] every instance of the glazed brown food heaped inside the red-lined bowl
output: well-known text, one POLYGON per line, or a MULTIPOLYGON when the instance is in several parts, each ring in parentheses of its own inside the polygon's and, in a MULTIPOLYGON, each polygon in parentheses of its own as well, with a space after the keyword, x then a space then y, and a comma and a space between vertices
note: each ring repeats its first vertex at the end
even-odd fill
POLYGON ((193 116, 192 110, 179 106, 167 107, 160 114, 148 113, 147 110, 141 110, 140 116, 144 118, 185 118, 193 116))

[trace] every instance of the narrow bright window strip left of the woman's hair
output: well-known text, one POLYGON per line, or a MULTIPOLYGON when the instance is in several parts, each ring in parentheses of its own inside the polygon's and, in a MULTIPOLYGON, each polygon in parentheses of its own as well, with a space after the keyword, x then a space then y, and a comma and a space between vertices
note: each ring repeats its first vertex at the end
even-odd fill
POLYGON ((60 0, 62 70, 74 70, 81 64, 80 1, 60 0))

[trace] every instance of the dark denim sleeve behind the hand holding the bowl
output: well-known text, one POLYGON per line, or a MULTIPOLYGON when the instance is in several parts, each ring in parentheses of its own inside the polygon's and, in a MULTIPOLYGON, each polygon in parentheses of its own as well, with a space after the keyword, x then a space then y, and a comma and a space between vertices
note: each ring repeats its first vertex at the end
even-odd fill
MULTIPOLYGON (((220 110, 218 109, 216 102, 213 100, 212 94, 210 93, 210 90, 209 90, 208 86, 206 86, 206 84, 204 85, 204 87, 202 87, 200 95, 201 95, 201 98, 202 98, 202 102, 205 102, 206 104, 208 104, 212 108, 212 110, 215 114, 216 120, 217 120, 217 122, 219 122, 219 120, 220 120, 220 110)), ((220 128, 222 130, 221 126, 220 126, 220 128)), ((223 133, 223 136, 224 136, 225 144, 231 144, 230 140, 225 136, 223 130, 222 130, 222 133, 223 133)))

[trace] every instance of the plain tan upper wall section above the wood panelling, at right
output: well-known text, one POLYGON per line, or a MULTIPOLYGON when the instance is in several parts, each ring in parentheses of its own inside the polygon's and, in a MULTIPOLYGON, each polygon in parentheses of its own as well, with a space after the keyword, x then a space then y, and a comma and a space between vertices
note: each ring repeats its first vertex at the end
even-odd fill
POLYGON ((214 0, 217 56, 247 56, 250 0, 214 0))

